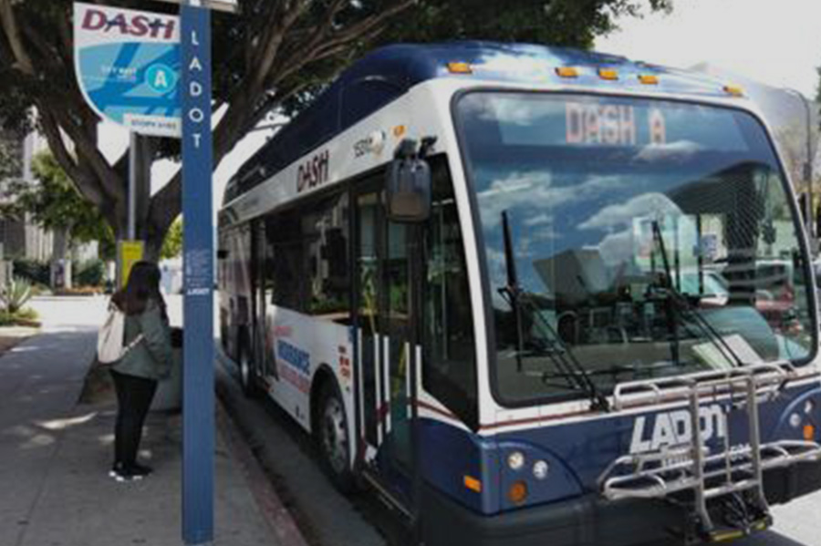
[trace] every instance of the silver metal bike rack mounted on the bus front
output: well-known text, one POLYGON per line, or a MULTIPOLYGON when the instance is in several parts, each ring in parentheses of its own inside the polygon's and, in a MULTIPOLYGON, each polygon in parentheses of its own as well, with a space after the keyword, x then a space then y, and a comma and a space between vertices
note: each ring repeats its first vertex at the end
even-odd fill
MULTIPOLYGON (((678 446, 617 458, 598 479, 601 494, 608 500, 664 499, 674 493, 691 491, 701 530, 711 533, 714 525, 707 501, 748 491, 755 508, 769 518, 764 498, 764 470, 821 460, 821 445, 816 442, 781 440, 762 444, 761 441, 759 403, 778 396, 794 376, 795 368, 785 362, 616 386, 613 393, 616 410, 686 398, 691 438, 678 446), (730 448, 729 419, 726 419, 723 450, 711 454, 701 434, 701 399, 720 396, 729 397, 729 407, 747 414, 750 445, 730 448)), ((752 523, 748 521, 748 527, 752 523)))

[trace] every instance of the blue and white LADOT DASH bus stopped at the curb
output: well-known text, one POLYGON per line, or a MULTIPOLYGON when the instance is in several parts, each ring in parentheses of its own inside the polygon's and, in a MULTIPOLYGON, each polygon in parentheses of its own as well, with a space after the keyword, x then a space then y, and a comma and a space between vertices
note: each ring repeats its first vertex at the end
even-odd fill
POLYGON ((732 84, 386 46, 235 173, 218 259, 244 389, 425 544, 729 541, 821 489, 808 243, 732 84))

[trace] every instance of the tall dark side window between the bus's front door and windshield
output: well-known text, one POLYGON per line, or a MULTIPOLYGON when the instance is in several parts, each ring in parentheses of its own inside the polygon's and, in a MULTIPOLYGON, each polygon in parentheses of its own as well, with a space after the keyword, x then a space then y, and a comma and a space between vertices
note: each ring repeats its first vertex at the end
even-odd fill
POLYGON ((478 423, 473 309, 462 230, 447 158, 429 158, 431 219, 425 232, 427 282, 422 384, 468 426, 478 423))

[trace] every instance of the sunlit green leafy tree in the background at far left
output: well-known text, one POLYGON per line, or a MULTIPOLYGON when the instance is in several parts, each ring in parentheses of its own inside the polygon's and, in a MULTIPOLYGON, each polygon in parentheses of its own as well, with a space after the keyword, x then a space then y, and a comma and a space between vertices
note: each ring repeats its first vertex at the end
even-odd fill
POLYGON ((50 153, 32 163, 36 183, 13 180, 5 189, 7 202, 0 207, 6 217, 32 221, 54 232, 54 261, 65 258, 74 243, 99 241, 101 253, 114 246, 109 225, 97 208, 81 196, 66 172, 50 153))

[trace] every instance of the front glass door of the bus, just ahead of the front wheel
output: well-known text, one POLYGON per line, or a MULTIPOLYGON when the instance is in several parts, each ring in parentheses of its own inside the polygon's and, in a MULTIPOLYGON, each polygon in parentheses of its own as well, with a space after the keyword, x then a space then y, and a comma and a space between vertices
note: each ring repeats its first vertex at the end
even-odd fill
MULTIPOLYGON (((379 180, 381 182, 381 180, 379 180)), ((411 500, 411 227, 386 219, 382 184, 353 194, 359 433, 366 469, 411 500)))

